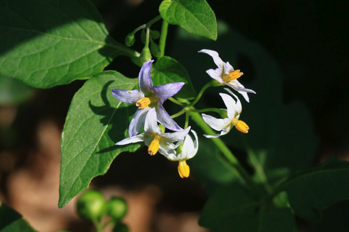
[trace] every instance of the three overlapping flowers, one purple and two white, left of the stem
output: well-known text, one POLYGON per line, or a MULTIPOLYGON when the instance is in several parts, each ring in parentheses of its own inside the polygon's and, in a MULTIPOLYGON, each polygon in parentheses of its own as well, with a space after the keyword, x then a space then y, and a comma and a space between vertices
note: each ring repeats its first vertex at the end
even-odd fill
POLYGON ((153 86, 150 77, 152 62, 153 60, 146 62, 141 68, 138 76, 139 90, 112 89, 114 97, 121 102, 135 103, 138 106, 128 128, 130 137, 116 143, 116 145, 144 142, 149 147, 148 153, 150 155, 159 152, 170 160, 179 161, 178 173, 180 177, 188 177, 189 166, 185 160, 197 153, 197 149, 191 149, 192 147, 198 147, 196 133, 192 130, 196 136, 196 142, 194 143, 188 135, 190 127, 187 129, 180 128, 162 105, 168 98, 174 96, 184 83, 175 82, 153 86), (175 132, 162 132, 157 122, 175 132), (143 125, 145 132, 138 134, 143 125), (177 143, 174 144, 175 142, 177 143), (183 147, 181 147, 182 143, 183 147))

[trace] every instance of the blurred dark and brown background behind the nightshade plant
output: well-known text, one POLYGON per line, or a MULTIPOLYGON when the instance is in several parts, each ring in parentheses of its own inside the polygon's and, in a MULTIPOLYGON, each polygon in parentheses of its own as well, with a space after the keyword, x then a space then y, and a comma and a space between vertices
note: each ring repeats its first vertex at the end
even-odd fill
MULTIPOLYGON (((161 1, 93 3, 112 37, 123 42, 130 31, 158 15, 161 1)), ((205 71, 215 68, 211 57, 197 51, 215 50, 224 61, 242 70, 245 75, 239 81, 257 92, 250 95, 250 103, 243 103, 243 120, 250 126, 249 146, 259 157, 267 153, 269 170, 293 173, 330 156, 349 160, 349 44, 344 8, 335 1, 315 0, 208 3, 219 22, 218 40, 209 41, 170 26, 165 50, 187 68, 196 90, 210 80, 205 71), (284 139, 279 141, 279 137, 284 139), (266 146, 268 143, 279 146, 266 146)), ((160 22, 152 26, 160 28, 160 22)), ((141 51, 143 44, 137 35, 133 48, 141 51)), ((139 67, 125 57, 117 57, 106 69, 126 77, 139 73, 139 67)), ((60 134, 70 102, 82 84, 74 81, 33 89, 0 77, 0 200, 22 213, 40 232, 92 231, 92 225, 75 213, 76 198, 62 209, 57 206, 60 134)), ((198 106, 224 107, 218 95, 222 91, 209 90, 198 106)), ((167 104, 170 113, 178 110, 167 104)), ((229 148, 253 174, 246 161, 246 143, 239 145, 245 139, 236 131, 229 136, 224 138, 229 148)), ((129 204, 125 223, 131 232, 208 231, 197 224, 206 196, 212 186, 231 181, 234 175, 222 160, 212 157, 216 151, 209 143, 200 145, 198 155, 189 163, 193 171, 188 179, 179 178, 177 163, 160 155, 150 157, 143 148, 119 155, 107 174, 95 178, 90 187, 99 189, 106 198, 125 197, 129 204), (221 171, 212 171, 212 165, 221 171)), ((348 232, 348 209, 348 202, 331 206, 322 221, 299 220, 299 228, 348 232)))

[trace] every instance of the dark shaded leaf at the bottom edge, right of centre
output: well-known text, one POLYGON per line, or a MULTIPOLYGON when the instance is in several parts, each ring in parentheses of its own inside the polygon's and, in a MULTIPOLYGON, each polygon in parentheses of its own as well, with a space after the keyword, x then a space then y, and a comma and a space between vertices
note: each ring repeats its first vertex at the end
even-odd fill
POLYGON ((207 201, 199 225, 214 232, 292 232, 295 219, 290 208, 259 208, 249 189, 225 186, 207 201))

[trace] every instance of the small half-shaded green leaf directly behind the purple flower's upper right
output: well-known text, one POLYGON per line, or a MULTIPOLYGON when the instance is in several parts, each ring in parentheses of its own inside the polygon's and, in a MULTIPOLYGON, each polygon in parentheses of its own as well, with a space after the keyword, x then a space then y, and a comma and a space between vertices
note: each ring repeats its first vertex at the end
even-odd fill
POLYGON ((163 56, 158 59, 151 73, 151 78, 154 85, 184 82, 185 85, 175 97, 181 99, 194 99, 196 97, 196 92, 187 70, 174 58, 163 56))

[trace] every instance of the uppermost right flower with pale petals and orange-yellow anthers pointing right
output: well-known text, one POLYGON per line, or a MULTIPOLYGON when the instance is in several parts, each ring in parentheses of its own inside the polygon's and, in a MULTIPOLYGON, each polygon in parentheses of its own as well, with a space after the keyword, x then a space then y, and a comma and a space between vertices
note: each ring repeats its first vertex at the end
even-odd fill
POLYGON ((246 89, 237 80, 237 78, 244 75, 244 73, 240 72, 240 70, 234 70, 233 66, 231 66, 229 62, 223 62, 223 60, 219 57, 218 52, 216 51, 203 49, 199 52, 203 52, 212 56, 213 61, 218 66, 217 69, 209 69, 206 71, 206 73, 218 82, 226 84, 227 86, 238 91, 240 94, 242 94, 242 96, 244 96, 245 100, 249 102, 249 96, 247 95, 247 93, 255 94, 256 92, 251 89, 246 89))

